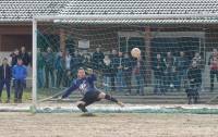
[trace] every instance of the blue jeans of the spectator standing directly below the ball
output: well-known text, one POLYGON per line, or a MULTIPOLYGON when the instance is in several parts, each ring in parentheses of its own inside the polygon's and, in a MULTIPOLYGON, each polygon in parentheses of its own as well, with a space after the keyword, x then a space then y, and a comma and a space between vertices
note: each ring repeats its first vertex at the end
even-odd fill
POLYGON ((137 94, 144 96, 144 77, 142 74, 136 74, 135 75, 135 80, 136 80, 136 87, 137 87, 137 94))

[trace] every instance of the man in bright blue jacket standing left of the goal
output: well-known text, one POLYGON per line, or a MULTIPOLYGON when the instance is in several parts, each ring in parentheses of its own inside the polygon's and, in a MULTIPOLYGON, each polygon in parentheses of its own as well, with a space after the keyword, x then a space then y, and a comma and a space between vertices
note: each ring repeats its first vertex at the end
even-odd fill
POLYGON ((15 84, 14 102, 21 103, 25 87, 25 79, 27 77, 27 68, 25 65, 23 65, 23 60, 21 58, 17 59, 17 64, 12 68, 12 76, 15 84))

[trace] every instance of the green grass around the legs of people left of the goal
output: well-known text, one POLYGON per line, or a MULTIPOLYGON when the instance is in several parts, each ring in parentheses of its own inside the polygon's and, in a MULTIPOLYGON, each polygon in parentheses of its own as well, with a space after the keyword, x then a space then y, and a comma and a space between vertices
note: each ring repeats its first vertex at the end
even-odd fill
MULTIPOLYGON (((5 90, 2 91, 1 100, 3 103, 7 101, 7 91, 5 90)), ((31 100, 32 100, 32 89, 28 88, 28 89, 24 90, 22 101, 31 102, 31 100)), ((11 90, 11 103, 13 103, 13 102, 14 102, 14 89, 11 90)))

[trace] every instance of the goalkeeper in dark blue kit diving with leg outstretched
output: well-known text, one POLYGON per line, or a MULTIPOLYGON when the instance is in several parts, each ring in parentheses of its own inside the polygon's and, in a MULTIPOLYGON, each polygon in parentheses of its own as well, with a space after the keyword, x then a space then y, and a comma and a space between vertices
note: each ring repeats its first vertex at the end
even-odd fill
POLYGON ((64 94, 62 95, 62 99, 66 98, 71 92, 78 89, 78 91, 83 95, 83 98, 77 101, 77 108, 83 111, 87 112, 86 107, 96 102, 100 101, 101 99, 107 99, 112 102, 116 102, 120 107, 124 107, 121 101, 118 101, 116 98, 107 95, 95 87, 94 82, 97 79, 96 75, 93 74, 93 70, 88 70, 89 75, 86 76, 84 68, 78 68, 77 71, 77 78, 73 80, 73 84, 70 88, 68 88, 64 94))

